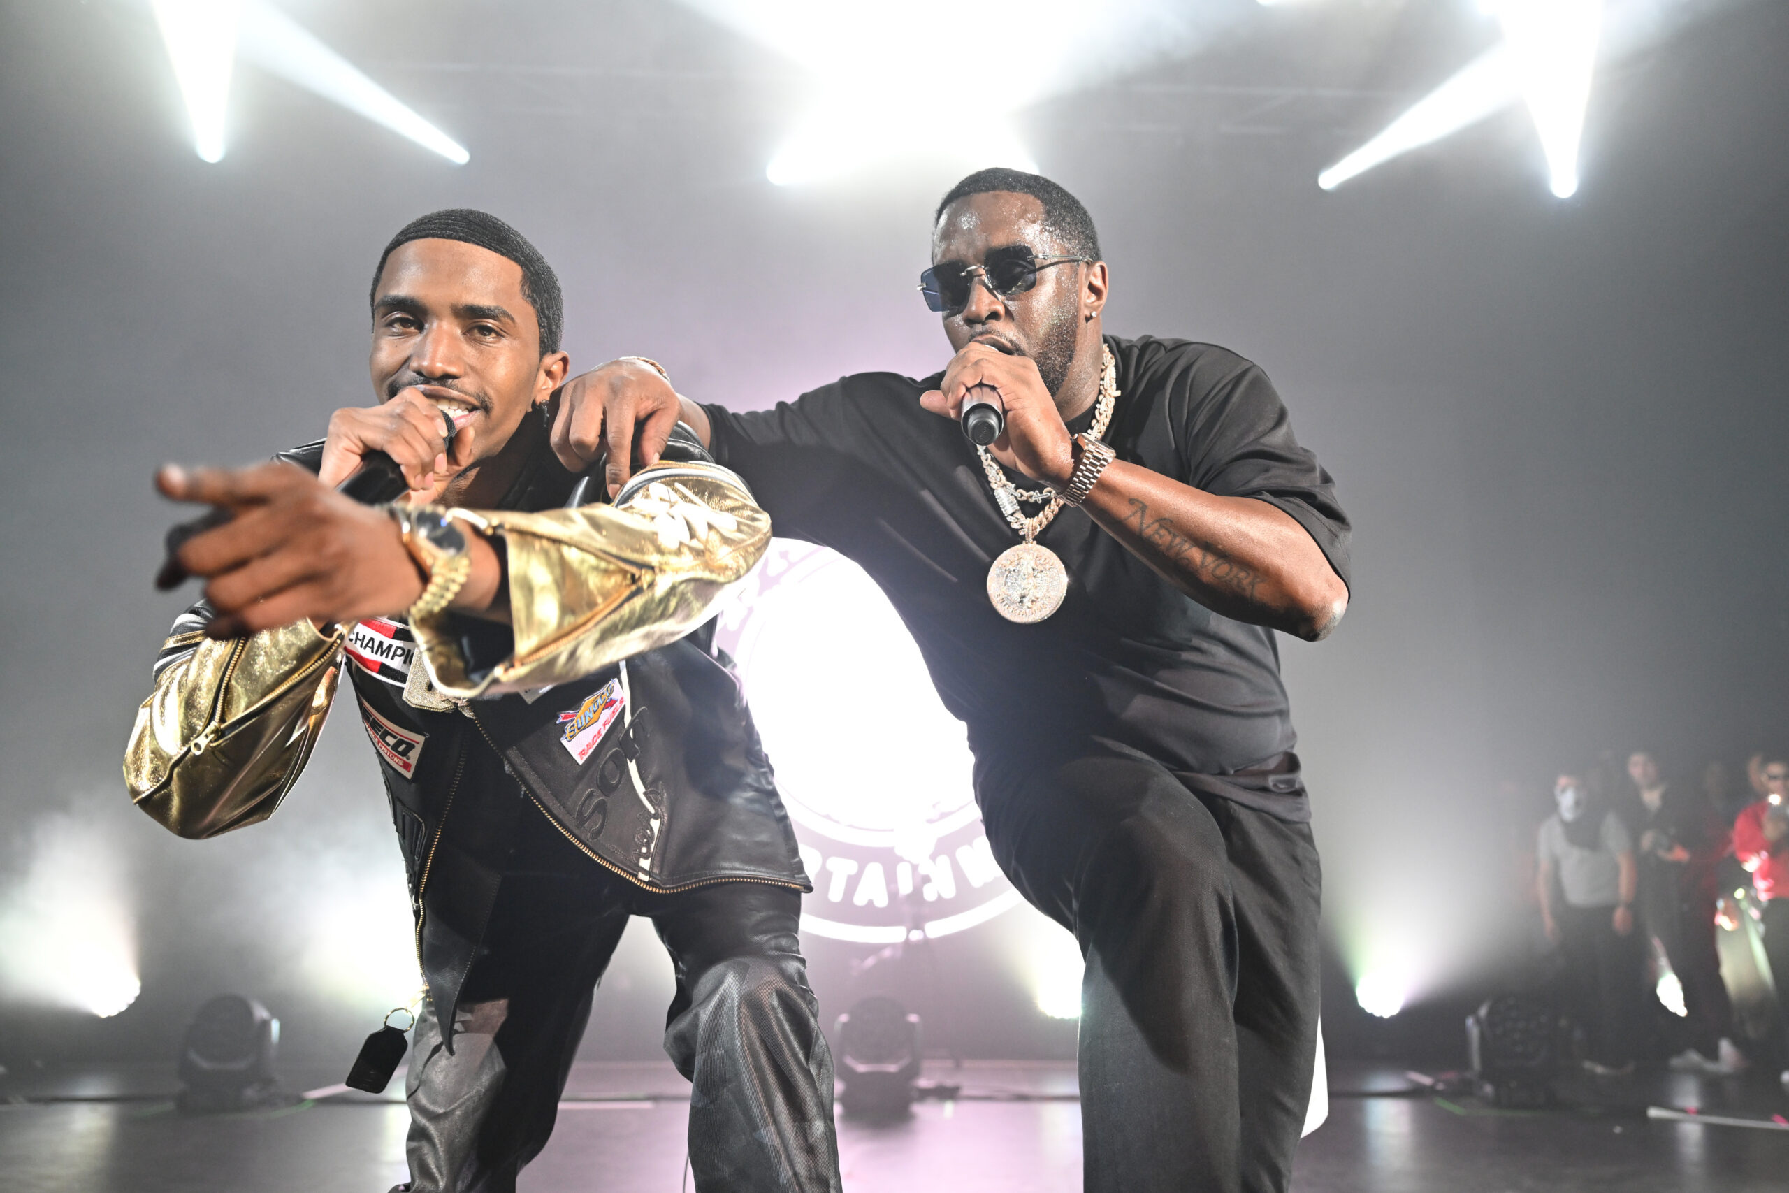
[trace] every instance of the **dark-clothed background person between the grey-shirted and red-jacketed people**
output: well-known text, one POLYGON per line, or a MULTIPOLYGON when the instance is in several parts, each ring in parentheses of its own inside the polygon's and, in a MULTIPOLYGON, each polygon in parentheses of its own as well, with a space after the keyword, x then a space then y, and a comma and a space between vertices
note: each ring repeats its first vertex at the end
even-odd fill
POLYGON ((1628 778, 1637 794, 1630 825, 1639 837, 1641 928, 1664 950, 1683 989, 1689 1046, 1671 1057, 1671 1068, 1737 1073, 1746 1062, 1728 1039, 1734 1003, 1714 944, 1716 864, 1726 853, 1726 830, 1701 796, 1666 783, 1644 749, 1628 755, 1628 778))

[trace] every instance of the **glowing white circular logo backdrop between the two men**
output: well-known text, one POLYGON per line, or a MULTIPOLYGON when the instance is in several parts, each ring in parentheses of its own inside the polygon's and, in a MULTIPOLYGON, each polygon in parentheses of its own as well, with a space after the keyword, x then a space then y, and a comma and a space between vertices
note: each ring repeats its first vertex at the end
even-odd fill
POLYGON ((982 832, 962 723, 861 567, 775 540, 716 642, 739 664, 814 880, 803 930, 893 944, 1018 905, 982 832))

